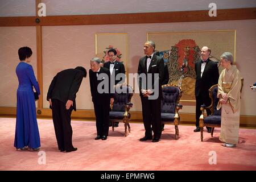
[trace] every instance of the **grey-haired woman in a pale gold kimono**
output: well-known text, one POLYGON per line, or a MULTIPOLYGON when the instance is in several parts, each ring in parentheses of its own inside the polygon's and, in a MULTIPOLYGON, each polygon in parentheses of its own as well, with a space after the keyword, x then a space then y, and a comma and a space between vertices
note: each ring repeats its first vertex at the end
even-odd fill
POLYGON ((220 98, 217 110, 221 109, 220 140, 225 147, 236 147, 240 125, 240 72, 233 65, 233 55, 225 52, 221 55, 222 70, 218 79, 218 94, 220 98))

